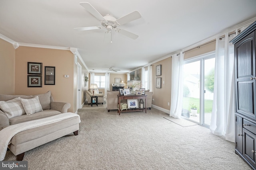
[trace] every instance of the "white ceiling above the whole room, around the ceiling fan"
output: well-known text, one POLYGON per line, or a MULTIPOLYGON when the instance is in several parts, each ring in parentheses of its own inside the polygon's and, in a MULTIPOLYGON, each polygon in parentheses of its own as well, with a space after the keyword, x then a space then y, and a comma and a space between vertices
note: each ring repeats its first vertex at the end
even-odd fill
POLYGON ((77 48, 89 71, 129 72, 256 17, 255 7, 256 0, 0 0, 0 34, 18 43, 77 48), (104 43, 106 29, 75 30, 100 25, 80 2, 117 19, 137 10, 142 18, 119 28, 138 39, 113 32, 112 43, 104 43))

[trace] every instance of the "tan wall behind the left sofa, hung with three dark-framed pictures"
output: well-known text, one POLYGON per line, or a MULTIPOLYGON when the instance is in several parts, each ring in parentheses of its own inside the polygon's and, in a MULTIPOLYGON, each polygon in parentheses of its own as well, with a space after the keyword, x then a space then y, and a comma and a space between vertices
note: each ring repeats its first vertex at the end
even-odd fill
POLYGON ((15 59, 15 94, 35 95, 43 94, 49 90, 55 101, 68 102, 71 104, 68 111, 76 111, 76 87, 74 84, 74 55, 70 51, 44 49, 34 47, 18 47, 15 59), (42 88, 27 87, 28 62, 42 63, 42 88), (44 66, 55 66, 55 85, 44 85, 44 66), (69 78, 64 78, 68 74, 69 78), (75 106, 74 106, 75 105, 75 106))

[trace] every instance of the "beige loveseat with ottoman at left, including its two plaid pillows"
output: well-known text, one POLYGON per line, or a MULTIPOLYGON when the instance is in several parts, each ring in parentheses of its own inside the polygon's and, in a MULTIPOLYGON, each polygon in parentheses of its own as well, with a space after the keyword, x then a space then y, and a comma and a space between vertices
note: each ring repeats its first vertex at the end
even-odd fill
MULTIPOLYGON (((30 149, 70 133, 78 135, 80 117, 75 113, 66 113, 69 107, 68 103, 54 102, 50 91, 34 96, 0 95, 0 134, 2 136, 6 136, 3 132, 12 127, 21 126, 19 128, 26 129, 24 125, 28 126, 33 122, 41 124, 19 131, 12 136, 8 149, 16 155, 16 160, 22 160, 24 153, 30 149), (51 123, 44 124, 47 119, 55 117, 59 120, 50 120, 51 123)), ((3 146, 0 148, 2 149, 3 146)))

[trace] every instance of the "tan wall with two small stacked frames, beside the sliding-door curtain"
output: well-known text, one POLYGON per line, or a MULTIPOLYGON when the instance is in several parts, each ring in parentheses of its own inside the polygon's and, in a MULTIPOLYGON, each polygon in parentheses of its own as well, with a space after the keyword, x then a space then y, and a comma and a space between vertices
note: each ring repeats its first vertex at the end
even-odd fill
POLYGON ((152 64, 152 91, 153 99, 152 104, 164 109, 170 110, 168 102, 171 101, 171 75, 172 75, 172 58, 169 57, 162 61, 152 64), (156 66, 162 67, 161 76, 156 76, 156 66), (162 87, 156 88, 156 78, 162 78, 162 87))

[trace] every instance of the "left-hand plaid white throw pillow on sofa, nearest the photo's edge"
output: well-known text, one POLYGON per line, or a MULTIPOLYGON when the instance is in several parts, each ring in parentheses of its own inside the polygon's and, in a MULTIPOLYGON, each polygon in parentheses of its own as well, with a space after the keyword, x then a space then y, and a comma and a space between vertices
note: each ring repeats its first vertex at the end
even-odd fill
POLYGON ((10 118, 25 114, 20 97, 8 101, 0 101, 0 109, 10 118))

